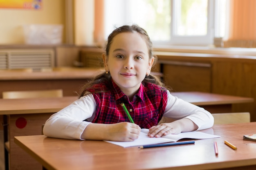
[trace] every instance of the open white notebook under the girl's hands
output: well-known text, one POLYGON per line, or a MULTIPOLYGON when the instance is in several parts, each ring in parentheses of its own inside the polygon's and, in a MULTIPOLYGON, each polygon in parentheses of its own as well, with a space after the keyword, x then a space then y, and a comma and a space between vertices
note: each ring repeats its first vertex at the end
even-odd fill
POLYGON ((210 139, 210 138, 216 138, 220 137, 218 135, 210 135, 204 132, 182 132, 177 135, 166 135, 159 138, 156 137, 148 137, 148 129, 141 129, 141 133, 139 135, 139 138, 134 141, 128 141, 128 142, 120 142, 120 141, 106 141, 111 144, 123 146, 126 147, 132 147, 132 146, 143 146, 143 145, 150 145, 150 144, 161 144, 161 143, 167 143, 167 142, 176 142, 180 139, 210 139))

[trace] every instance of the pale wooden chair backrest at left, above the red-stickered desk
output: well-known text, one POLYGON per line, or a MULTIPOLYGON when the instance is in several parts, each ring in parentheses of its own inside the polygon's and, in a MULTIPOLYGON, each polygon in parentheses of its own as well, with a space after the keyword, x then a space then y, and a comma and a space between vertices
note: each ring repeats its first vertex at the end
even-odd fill
POLYGON ((41 98, 41 97, 63 97, 62 89, 40 90, 40 91, 4 91, 3 99, 41 98))

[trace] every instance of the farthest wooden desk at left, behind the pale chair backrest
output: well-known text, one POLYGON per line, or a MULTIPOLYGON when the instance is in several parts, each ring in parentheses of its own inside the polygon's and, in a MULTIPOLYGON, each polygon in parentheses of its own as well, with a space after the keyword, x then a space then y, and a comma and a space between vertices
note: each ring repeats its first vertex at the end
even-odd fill
POLYGON ((74 96, 88 79, 102 73, 100 68, 66 68, 45 72, 4 71, 0 73, 0 98, 3 91, 63 89, 64 96, 74 96))

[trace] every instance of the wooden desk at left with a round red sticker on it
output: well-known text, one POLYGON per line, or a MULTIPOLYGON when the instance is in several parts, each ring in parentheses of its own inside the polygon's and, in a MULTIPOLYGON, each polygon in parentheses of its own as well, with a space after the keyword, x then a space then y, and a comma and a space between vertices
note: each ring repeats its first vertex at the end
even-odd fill
POLYGON ((78 99, 77 96, 38 99, 0 99, 0 115, 4 116, 3 124, 5 139, 10 141, 10 170, 33 170, 41 168, 40 164, 31 159, 23 150, 13 143, 14 136, 40 135, 42 125, 53 114, 78 99), (24 127, 25 126, 25 127, 24 127), (27 167, 24 162, 30 162, 27 167), (35 168, 36 169, 36 168, 35 168))

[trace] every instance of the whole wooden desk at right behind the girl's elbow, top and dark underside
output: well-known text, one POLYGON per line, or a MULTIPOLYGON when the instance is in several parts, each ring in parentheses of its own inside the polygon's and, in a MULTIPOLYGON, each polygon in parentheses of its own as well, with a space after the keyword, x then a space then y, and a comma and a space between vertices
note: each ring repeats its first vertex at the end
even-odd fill
POLYGON ((251 97, 220 95, 196 91, 173 92, 171 94, 186 102, 200 106, 210 113, 230 113, 232 112, 233 104, 254 102, 254 98, 251 97))

